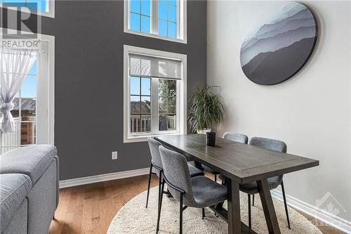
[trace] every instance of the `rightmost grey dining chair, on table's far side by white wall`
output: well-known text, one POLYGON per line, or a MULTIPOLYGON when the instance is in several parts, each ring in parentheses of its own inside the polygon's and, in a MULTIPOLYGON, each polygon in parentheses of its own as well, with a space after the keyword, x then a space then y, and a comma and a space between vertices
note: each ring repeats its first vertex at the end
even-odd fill
MULTIPOLYGON (((250 139, 250 145, 255 145, 260 148, 265 148, 268 150, 275 150, 279 152, 286 152, 286 143, 283 141, 278 141, 270 138, 260 138, 260 137, 253 137, 250 139)), ((270 190, 277 188, 279 185, 282 186, 282 193, 283 193, 283 198, 284 198, 284 207, 285 207, 285 213, 286 213, 286 220, 288 221, 288 227, 290 228, 290 221, 289 221, 289 212, 288 212, 288 206, 286 204, 286 197, 285 197, 285 190, 284 190, 284 183, 283 183, 283 176, 273 176, 271 178, 268 178, 268 185, 270 186, 270 190)), ((249 227, 251 228, 251 195, 253 195, 253 204, 255 203, 255 194, 259 193, 258 192, 258 186, 256 181, 250 182, 250 183, 244 183, 240 185, 240 190, 244 193, 248 194, 249 198, 249 227)))

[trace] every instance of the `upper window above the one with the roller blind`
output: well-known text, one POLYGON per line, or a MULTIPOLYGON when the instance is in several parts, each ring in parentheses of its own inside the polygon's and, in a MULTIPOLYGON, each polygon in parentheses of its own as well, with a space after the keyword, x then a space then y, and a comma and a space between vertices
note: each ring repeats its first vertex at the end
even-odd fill
POLYGON ((125 0, 124 32, 186 43, 186 0, 125 0))

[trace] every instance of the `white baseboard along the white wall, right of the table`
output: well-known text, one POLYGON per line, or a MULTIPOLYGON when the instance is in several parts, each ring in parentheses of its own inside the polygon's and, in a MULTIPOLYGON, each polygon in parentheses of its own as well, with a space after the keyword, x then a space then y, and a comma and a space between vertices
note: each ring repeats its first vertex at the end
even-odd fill
MULTIPOLYGON (((283 202, 283 195, 281 191, 271 190, 271 194, 272 197, 283 202)), ((289 206, 298 209, 305 214, 309 214, 310 216, 319 219, 319 221, 323 221, 324 223, 327 223, 334 228, 343 230, 345 233, 351 233, 350 221, 342 219, 334 214, 326 212, 324 209, 319 209, 312 204, 308 204, 289 195, 286 195, 286 202, 289 204, 289 206)))

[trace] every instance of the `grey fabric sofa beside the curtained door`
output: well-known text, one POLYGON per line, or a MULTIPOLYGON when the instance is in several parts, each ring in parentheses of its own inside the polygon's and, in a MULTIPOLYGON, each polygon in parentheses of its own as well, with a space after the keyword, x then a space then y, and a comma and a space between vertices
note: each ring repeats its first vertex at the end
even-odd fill
POLYGON ((48 233, 58 206, 58 156, 32 145, 0 156, 1 233, 48 233))

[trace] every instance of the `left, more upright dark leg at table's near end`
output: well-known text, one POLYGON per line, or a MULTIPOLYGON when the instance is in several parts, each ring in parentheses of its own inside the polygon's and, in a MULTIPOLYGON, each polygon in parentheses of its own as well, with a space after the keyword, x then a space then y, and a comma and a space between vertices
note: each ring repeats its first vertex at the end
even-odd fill
POLYGON ((239 183, 227 179, 228 234, 241 233, 239 183))

